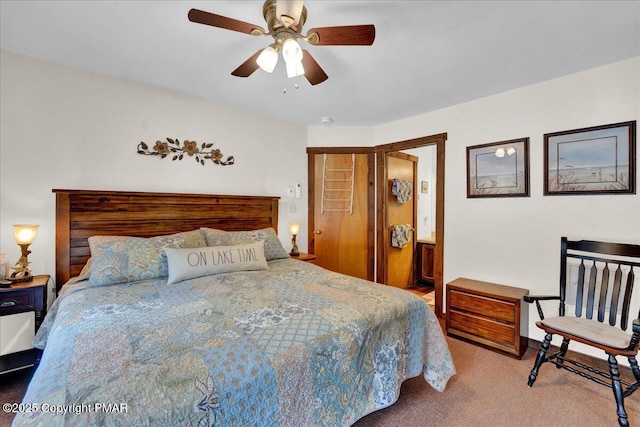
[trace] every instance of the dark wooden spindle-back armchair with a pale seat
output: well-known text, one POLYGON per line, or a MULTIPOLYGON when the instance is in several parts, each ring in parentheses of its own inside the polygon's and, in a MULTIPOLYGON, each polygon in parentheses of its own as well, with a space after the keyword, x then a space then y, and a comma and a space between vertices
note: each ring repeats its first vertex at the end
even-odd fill
POLYGON ((618 423, 628 427, 624 399, 640 387, 640 368, 636 361, 640 342, 638 295, 635 296, 634 311, 631 308, 634 272, 640 271, 640 245, 569 241, 563 237, 560 261, 560 295, 524 296, 526 302, 536 303, 540 316, 536 325, 546 332, 529 375, 529 387, 535 382, 540 366, 545 362, 553 363, 557 368, 611 388, 616 399, 618 423), (560 302, 558 316, 544 317, 540 301, 545 300, 560 302), (565 315, 567 304, 575 305, 575 316, 565 315), (637 317, 630 325, 629 316, 636 313, 637 317), (626 332, 629 326, 631 333, 626 332), (560 351, 547 355, 554 334, 562 336, 562 345, 560 351), (609 372, 566 357, 571 340, 604 350, 609 359, 609 372), (628 358, 635 382, 620 378, 616 356, 628 358))

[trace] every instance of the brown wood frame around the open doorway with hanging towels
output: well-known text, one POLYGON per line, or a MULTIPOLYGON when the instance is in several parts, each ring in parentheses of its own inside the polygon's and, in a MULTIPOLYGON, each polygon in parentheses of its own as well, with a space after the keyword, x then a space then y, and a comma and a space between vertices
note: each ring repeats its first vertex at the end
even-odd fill
POLYGON ((378 251, 376 260, 376 277, 386 277, 384 271, 387 254, 389 250, 385 245, 385 219, 387 218, 387 198, 386 198, 386 164, 384 162, 385 155, 394 151, 408 150, 411 148, 425 147, 428 145, 436 146, 436 244, 434 249, 434 291, 435 291, 435 307, 436 316, 442 317, 442 299, 444 295, 444 160, 445 160, 445 142, 447 134, 440 133, 421 138, 414 138, 405 141, 393 142, 390 144, 378 145, 375 147, 377 171, 377 245, 382 250, 378 251))

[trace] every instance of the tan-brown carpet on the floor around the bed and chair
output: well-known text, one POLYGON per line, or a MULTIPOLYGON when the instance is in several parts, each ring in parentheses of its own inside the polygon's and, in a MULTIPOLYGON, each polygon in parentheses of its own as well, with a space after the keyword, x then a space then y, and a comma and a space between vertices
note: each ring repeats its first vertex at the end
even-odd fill
MULTIPOLYGON (((546 364, 533 387, 527 377, 537 352, 522 360, 447 337, 458 373, 439 393, 420 376, 405 381, 398 401, 354 427, 493 427, 618 425, 609 388, 546 364)), ((627 375, 630 370, 623 369, 627 375)), ((0 402, 20 402, 32 370, 0 377, 0 402)), ((640 426, 640 391, 625 400, 631 426, 640 426)), ((0 426, 13 414, 0 411, 0 426)))

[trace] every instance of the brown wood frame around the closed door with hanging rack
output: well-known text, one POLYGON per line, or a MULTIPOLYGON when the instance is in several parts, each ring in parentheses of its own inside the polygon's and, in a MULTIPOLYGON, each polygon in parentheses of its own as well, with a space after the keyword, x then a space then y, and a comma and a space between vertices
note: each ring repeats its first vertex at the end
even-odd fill
POLYGON ((324 154, 366 154, 367 155, 367 279, 374 280, 375 265, 375 154, 371 147, 308 147, 307 148, 307 187, 309 208, 307 221, 309 223, 308 252, 315 254, 315 156, 324 154))

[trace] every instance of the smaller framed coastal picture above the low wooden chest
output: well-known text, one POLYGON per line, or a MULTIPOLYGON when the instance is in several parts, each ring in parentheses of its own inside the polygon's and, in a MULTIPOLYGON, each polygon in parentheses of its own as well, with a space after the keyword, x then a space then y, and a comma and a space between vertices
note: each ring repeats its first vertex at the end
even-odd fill
POLYGON ((467 147, 467 197, 529 197, 529 138, 467 147))

